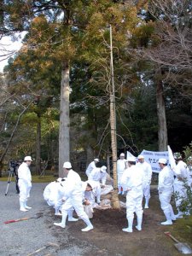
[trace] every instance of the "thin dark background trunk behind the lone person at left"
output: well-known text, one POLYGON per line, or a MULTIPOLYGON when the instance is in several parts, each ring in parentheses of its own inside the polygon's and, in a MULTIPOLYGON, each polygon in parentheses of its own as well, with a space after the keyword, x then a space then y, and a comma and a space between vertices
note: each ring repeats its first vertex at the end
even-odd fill
POLYGON ((36 136, 36 172, 41 174, 41 116, 38 115, 37 136, 36 136))

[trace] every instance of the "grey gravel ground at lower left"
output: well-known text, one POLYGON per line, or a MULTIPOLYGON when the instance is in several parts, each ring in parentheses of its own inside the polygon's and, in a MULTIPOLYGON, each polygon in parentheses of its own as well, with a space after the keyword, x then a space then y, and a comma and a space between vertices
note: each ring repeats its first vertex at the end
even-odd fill
POLYGON ((73 237, 67 229, 58 229, 53 225, 54 222, 60 222, 59 218, 61 217, 55 217, 53 210, 44 201, 45 186, 46 183, 32 183, 31 196, 27 202, 32 210, 20 212, 19 195, 15 193, 15 183, 10 183, 8 195, 5 196, 7 182, 0 182, 0 255, 30 255, 36 250, 48 246, 49 242, 57 246, 46 247, 33 255, 75 256, 99 252, 99 249, 94 245, 73 237), (40 218, 4 224, 4 221, 10 219, 38 216, 39 212, 42 212, 40 218))

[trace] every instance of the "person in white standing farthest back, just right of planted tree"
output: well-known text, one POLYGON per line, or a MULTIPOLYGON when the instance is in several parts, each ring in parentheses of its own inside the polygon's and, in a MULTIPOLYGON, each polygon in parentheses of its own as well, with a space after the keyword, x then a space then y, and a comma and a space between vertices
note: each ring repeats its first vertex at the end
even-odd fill
POLYGON ((118 194, 122 194, 122 195, 124 195, 124 190, 123 190, 123 187, 121 186, 120 181, 126 168, 127 168, 127 164, 125 160, 125 154, 121 153, 119 155, 119 160, 117 160, 117 177, 118 177, 118 194))

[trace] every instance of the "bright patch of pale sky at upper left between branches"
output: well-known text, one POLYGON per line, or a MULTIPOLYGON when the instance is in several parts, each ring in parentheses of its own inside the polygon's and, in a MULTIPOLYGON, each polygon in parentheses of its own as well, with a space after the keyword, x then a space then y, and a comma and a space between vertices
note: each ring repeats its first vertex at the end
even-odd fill
MULTIPOLYGON (((17 34, 18 36, 18 34, 17 34)), ((3 67, 8 64, 8 59, 4 60, 6 57, 2 56, 6 54, 8 51, 17 51, 22 46, 21 40, 24 34, 20 34, 20 39, 18 41, 11 41, 10 37, 3 37, 0 40, 0 73, 3 73, 3 67)))

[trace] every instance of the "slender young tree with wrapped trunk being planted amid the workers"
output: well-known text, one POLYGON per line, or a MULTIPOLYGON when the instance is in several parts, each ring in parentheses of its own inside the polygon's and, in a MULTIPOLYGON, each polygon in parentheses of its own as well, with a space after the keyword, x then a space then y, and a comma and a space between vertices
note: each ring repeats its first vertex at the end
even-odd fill
POLYGON ((110 88, 110 125, 111 125, 111 148, 113 159, 113 208, 119 209, 118 180, 117 180, 117 131, 116 131, 116 108, 114 95, 114 77, 113 77, 113 45, 112 45, 112 27, 110 26, 110 49, 111 49, 111 88, 110 88))

